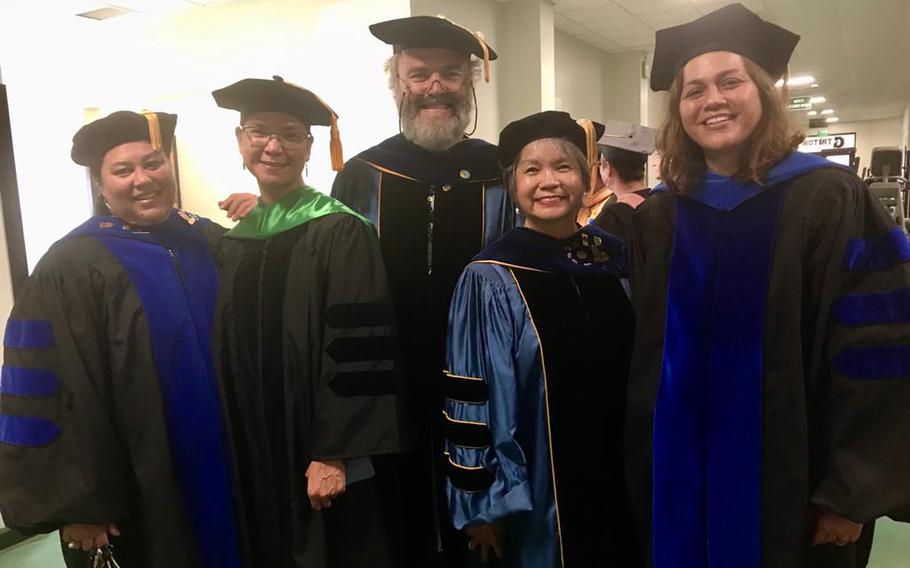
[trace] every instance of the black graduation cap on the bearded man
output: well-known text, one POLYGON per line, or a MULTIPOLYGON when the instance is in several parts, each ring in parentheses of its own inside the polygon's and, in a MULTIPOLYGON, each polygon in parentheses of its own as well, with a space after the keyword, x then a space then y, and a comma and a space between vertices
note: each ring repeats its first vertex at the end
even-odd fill
POLYGON ((370 33, 390 44, 395 53, 420 47, 441 47, 483 60, 484 80, 490 82, 490 61, 498 56, 480 32, 445 16, 411 16, 370 26, 370 33))

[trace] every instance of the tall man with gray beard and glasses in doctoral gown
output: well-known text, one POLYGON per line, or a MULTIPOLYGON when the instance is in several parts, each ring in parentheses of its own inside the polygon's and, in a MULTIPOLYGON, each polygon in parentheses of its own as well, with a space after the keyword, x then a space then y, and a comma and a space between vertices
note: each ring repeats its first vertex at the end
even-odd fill
MULTIPOLYGON (((332 196, 369 218, 389 276, 412 452, 396 459, 395 491, 405 511, 406 566, 464 566, 466 541, 444 500, 442 401, 458 379, 443 369, 449 300, 462 269, 515 226, 500 181, 496 146, 469 138, 474 83, 496 59, 482 34, 444 17, 373 24, 394 47, 386 70, 400 134, 349 160, 332 196), (472 56, 475 59, 472 60, 472 56)), ((472 130, 473 131, 473 130, 472 130)))

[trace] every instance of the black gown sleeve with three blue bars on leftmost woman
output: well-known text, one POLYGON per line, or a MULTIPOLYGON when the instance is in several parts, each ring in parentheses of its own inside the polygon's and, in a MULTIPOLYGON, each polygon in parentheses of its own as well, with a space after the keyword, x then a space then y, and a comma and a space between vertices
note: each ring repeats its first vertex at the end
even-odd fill
POLYGON ((0 513, 26 534, 69 523, 110 523, 125 513, 126 459, 107 386, 111 346, 92 293, 100 278, 93 268, 52 251, 7 322, 0 513))

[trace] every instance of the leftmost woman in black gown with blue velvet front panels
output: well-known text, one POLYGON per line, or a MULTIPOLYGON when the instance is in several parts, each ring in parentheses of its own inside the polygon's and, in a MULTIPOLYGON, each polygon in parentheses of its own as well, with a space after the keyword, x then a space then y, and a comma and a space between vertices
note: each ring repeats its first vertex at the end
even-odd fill
POLYGON ((61 529, 67 565, 241 566, 209 329, 222 229, 174 210, 177 117, 115 112, 72 157, 95 215, 39 261, 6 327, 0 513, 61 529))

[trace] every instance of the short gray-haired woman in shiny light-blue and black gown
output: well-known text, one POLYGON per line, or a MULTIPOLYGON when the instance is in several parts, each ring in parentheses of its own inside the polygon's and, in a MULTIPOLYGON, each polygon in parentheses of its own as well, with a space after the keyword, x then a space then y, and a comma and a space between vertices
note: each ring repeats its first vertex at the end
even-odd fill
POLYGON ((626 259, 619 239, 576 226, 586 147, 564 112, 503 129, 503 179, 524 227, 481 251, 452 299, 449 508, 480 559, 502 566, 642 565, 622 459, 626 259))

